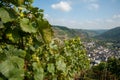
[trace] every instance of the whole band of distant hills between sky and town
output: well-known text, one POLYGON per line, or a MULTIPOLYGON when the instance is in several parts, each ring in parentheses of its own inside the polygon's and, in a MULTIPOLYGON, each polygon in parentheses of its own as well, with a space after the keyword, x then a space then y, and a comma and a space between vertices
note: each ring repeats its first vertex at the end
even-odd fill
POLYGON ((52 27, 55 36, 59 38, 74 38, 81 37, 81 39, 98 39, 103 41, 120 41, 120 27, 110 30, 85 30, 85 29, 70 29, 64 26, 52 27))

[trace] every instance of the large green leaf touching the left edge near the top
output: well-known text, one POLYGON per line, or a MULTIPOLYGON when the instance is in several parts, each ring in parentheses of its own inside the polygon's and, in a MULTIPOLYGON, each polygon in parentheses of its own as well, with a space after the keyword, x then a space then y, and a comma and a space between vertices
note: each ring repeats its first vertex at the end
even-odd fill
POLYGON ((0 8, 0 18, 3 23, 6 23, 15 20, 17 17, 12 9, 0 8))

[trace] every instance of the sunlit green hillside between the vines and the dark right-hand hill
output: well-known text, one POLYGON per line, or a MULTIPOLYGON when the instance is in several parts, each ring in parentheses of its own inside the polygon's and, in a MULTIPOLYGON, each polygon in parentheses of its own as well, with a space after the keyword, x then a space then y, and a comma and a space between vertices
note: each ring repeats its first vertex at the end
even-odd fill
POLYGON ((84 38, 91 38, 101 33, 105 32, 106 30, 85 30, 85 29, 70 29, 65 26, 55 26, 52 27, 54 31, 54 36, 60 39, 66 38, 73 38, 73 37, 80 37, 84 38))

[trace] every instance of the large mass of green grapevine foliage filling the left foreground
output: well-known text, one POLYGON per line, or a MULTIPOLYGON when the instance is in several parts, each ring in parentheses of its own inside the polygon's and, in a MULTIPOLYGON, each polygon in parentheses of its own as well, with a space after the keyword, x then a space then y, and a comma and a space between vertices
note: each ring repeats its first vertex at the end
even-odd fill
POLYGON ((52 40, 33 0, 0 1, 0 80, 71 80, 89 66, 79 38, 52 40))

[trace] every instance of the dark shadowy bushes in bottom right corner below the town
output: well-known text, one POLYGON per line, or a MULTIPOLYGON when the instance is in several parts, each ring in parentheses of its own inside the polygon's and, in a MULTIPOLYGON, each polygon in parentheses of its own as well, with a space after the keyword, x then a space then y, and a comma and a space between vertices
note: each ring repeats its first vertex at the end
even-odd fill
POLYGON ((87 80, 119 80, 120 79, 120 59, 111 57, 107 62, 101 62, 92 66, 84 74, 87 80))

